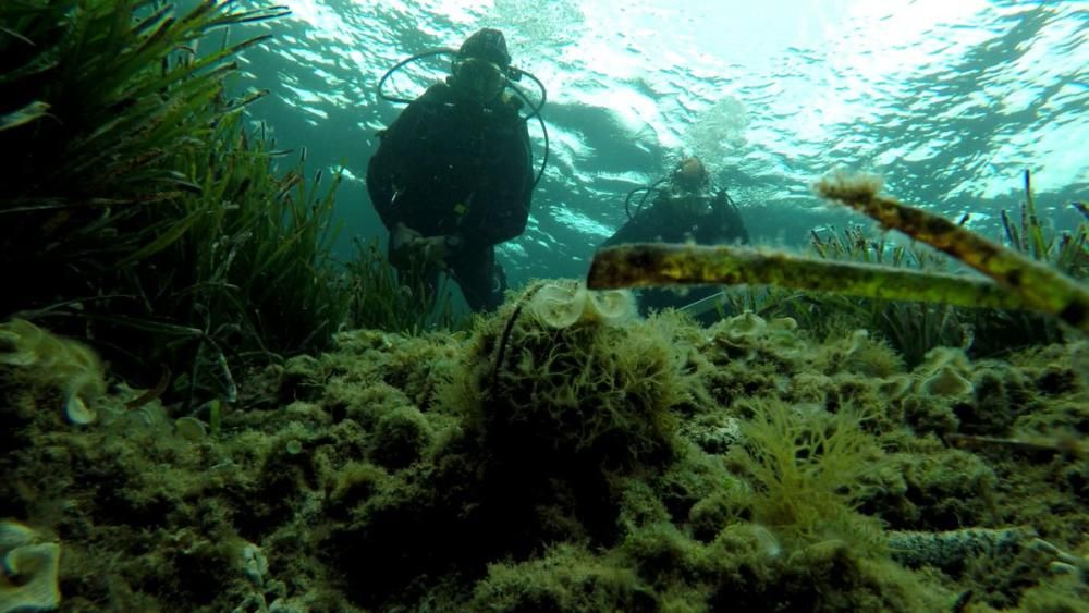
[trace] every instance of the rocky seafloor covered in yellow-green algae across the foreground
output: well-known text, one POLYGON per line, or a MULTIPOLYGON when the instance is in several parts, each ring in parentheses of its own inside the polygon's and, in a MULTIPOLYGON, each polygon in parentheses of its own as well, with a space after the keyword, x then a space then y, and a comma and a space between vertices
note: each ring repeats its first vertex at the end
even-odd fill
POLYGON ((344 332, 193 415, 9 329, 0 612, 1089 610, 1085 341, 908 368, 613 298, 344 332))

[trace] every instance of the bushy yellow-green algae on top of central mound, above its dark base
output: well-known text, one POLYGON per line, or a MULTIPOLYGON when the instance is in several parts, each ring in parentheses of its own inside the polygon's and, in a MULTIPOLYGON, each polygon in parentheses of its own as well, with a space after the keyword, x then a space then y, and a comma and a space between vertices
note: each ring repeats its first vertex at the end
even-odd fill
POLYGON ((689 383, 670 339, 634 317, 626 294, 567 281, 528 294, 479 327, 448 401, 470 412, 489 446, 527 463, 671 457, 670 409, 689 383))

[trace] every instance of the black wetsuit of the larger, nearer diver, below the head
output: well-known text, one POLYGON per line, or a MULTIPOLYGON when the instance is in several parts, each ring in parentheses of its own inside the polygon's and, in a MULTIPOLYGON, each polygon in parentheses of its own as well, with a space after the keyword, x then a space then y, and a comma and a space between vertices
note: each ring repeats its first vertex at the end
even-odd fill
POLYGON ((458 102, 432 85, 381 134, 367 191, 388 230, 456 236, 448 270, 474 310, 502 303, 494 246, 522 234, 534 187, 529 132, 515 100, 458 102))

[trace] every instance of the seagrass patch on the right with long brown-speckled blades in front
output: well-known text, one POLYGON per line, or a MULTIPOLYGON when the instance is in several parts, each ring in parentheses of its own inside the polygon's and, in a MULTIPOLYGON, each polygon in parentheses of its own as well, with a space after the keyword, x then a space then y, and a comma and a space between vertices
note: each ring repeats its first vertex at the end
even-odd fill
MULTIPOLYGON (((883 225, 949 252, 994 277, 950 273, 950 262, 923 247, 908 248, 858 228, 813 233, 817 258, 736 247, 646 245, 599 254, 590 282, 602 287, 653 283, 747 283, 726 291, 729 310, 792 317, 818 336, 864 328, 881 333, 908 364, 938 346, 976 356, 1059 342, 1064 327, 1089 327, 1089 213, 1073 232, 1049 235, 1036 212, 1029 175, 1020 222, 1003 211, 1002 247, 947 222, 877 195, 870 179, 836 177, 822 195, 860 201, 883 225), (867 205, 873 203, 872 205, 867 205), (636 267, 628 262, 638 261, 636 267), (1042 311, 1042 312, 1041 312, 1042 311), (1065 320, 1063 322, 1062 320, 1065 320)), ((1078 204, 1076 203, 1075 206, 1078 204)))

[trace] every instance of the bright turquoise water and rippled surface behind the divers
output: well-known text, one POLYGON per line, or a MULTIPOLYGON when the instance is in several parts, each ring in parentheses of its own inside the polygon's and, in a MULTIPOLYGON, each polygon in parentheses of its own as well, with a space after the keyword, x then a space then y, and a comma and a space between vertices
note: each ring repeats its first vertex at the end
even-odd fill
MULTIPOLYGON (((247 52, 243 85, 272 90, 254 119, 280 146, 307 146, 311 169, 347 168, 342 245, 384 235, 362 179, 401 108, 377 98, 381 75, 479 27, 505 33, 514 64, 548 87, 551 138, 528 229, 500 248, 515 284, 583 275, 624 195, 682 151, 709 163, 756 242, 786 246, 861 221, 811 194, 835 168, 878 172, 901 199, 971 212, 992 234, 1025 169, 1057 226, 1089 184, 1089 2, 283 3, 291 17, 255 27, 276 38, 247 52)), ((413 64, 391 90, 413 97, 445 68, 413 64)))

